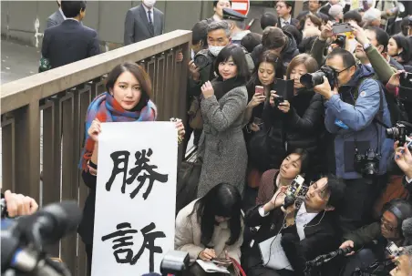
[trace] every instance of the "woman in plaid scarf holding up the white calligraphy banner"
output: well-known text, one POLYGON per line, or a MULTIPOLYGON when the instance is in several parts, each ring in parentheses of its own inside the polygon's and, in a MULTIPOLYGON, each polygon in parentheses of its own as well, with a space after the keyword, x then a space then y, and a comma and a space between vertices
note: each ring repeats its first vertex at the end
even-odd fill
MULTIPOLYGON (((78 234, 86 245, 88 275, 90 275, 93 231, 95 220, 96 181, 98 173, 98 135, 102 122, 144 122, 155 121, 157 109, 150 100, 151 83, 145 70, 131 62, 120 64, 108 74, 107 92, 96 97, 88 106, 85 146, 79 167, 82 178, 90 189, 83 210, 83 219, 78 234)), ((184 136, 180 119, 176 121, 179 137, 184 136)))

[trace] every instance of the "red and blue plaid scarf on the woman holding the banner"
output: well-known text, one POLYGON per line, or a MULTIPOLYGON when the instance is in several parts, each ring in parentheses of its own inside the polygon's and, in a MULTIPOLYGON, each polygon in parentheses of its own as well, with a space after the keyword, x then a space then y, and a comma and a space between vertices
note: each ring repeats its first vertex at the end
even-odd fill
POLYGON ((104 122, 143 122, 155 121, 157 116, 157 109, 155 104, 149 100, 146 107, 140 111, 128 111, 120 106, 117 100, 108 92, 105 92, 96 97, 88 106, 88 114, 86 115, 85 128, 85 147, 81 154, 79 168, 87 170, 88 160, 93 154, 95 148, 95 141, 88 136, 88 128, 95 118, 102 123, 104 122))

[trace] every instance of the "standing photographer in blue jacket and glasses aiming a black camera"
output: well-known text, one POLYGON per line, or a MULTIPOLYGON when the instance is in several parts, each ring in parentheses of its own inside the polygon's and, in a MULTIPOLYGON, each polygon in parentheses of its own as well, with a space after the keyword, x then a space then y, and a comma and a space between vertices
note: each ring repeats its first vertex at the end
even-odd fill
POLYGON ((386 163, 393 140, 386 138, 391 126, 386 98, 373 71, 356 66, 348 51, 335 48, 319 72, 306 74, 301 83, 324 97, 324 125, 335 134, 336 175, 345 181, 340 214, 344 231, 355 230, 372 220, 372 206, 386 185, 386 163))

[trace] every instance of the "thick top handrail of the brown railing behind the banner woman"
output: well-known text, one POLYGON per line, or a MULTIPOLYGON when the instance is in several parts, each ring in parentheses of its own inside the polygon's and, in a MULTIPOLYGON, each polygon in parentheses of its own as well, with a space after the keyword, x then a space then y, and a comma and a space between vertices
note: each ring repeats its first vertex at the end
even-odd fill
POLYGON ((66 66, 6 83, 0 87, 1 114, 101 77, 122 62, 136 62, 188 41, 191 41, 191 31, 175 30, 98 56, 91 56, 66 66))

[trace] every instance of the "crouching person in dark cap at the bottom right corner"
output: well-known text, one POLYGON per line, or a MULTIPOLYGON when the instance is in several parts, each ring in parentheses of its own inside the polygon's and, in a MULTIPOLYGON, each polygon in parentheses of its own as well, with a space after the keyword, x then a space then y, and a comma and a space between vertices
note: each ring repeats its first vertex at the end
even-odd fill
POLYGON ((376 260, 377 263, 382 264, 379 271, 391 271, 393 266, 391 261, 385 260, 396 257, 398 248, 405 245, 402 223, 411 217, 412 206, 409 202, 403 199, 392 199, 384 206, 380 222, 346 233, 345 242, 340 248, 349 247, 353 251, 347 254, 351 257, 347 259, 342 275, 353 275, 356 269, 364 272, 369 271, 369 267, 376 269, 374 265, 376 260))

